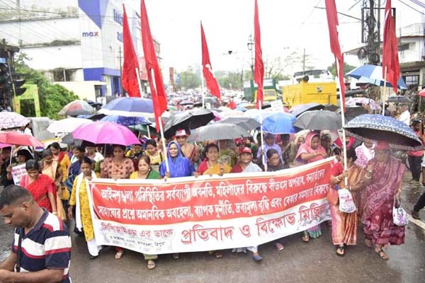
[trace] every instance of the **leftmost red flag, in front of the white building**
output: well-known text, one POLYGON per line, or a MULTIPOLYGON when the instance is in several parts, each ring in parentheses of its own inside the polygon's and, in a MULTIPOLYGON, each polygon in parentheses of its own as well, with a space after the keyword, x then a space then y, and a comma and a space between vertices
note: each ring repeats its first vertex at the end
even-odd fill
POLYGON ((139 69, 139 62, 137 61, 137 55, 135 47, 132 44, 132 37, 130 28, 128 27, 127 13, 125 12, 125 6, 123 4, 123 47, 124 47, 124 64, 123 74, 121 82, 123 88, 127 91, 130 97, 141 97, 139 90, 139 82, 137 81, 136 70, 139 69))

